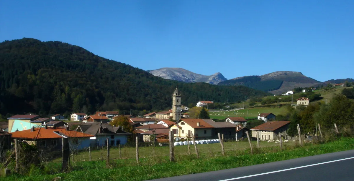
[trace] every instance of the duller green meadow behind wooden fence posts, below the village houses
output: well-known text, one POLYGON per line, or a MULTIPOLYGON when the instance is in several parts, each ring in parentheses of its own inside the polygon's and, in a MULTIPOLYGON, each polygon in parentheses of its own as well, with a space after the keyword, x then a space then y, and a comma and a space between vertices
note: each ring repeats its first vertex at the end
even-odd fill
MULTIPOLYGON (((257 142, 253 142, 253 144, 257 145, 257 142)), ((286 142, 284 143, 285 146, 292 146, 293 142, 286 142)), ((191 152, 195 154, 194 146, 190 145, 191 152)), ((213 152, 218 152, 221 149, 219 143, 214 144, 202 144, 197 145, 198 152, 200 154, 209 154, 213 152)), ((259 144, 260 147, 274 147, 279 146, 279 144, 275 144, 274 142, 266 142, 261 141, 259 144)), ((246 150, 250 148, 250 145, 247 141, 228 141, 224 142, 225 151, 240 151, 246 150)), ((119 158, 119 149, 118 148, 111 148, 110 149, 110 158, 118 159, 119 158)), ((91 158, 92 160, 103 160, 106 158, 106 147, 102 150, 93 150, 91 151, 91 158)), ((188 154, 188 146, 175 146, 175 154, 177 156, 186 156, 188 154)), ((158 156, 169 156, 169 147, 167 146, 156 146, 155 147, 155 155, 158 156)), ((121 148, 121 156, 124 159, 136 158, 135 147, 123 147, 121 148)), ((153 156, 153 147, 139 147, 139 157, 141 158, 148 158, 153 156)), ((89 160, 89 152, 88 150, 84 152, 80 152, 74 156, 76 161, 87 161, 89 160)), ((61 159, 54 160, 55 162, 61 162, 61 159)))

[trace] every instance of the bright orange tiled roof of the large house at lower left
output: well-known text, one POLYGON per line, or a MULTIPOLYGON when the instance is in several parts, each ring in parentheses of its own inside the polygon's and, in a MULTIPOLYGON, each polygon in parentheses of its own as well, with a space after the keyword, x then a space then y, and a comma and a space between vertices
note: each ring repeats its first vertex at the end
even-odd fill
POLYGON ((47 139, 47 138, 63 138, 59 134, 68 136, 70 138, 76 137, 93 137, 93 135, 85 134, 81 132, 75 132, 70 130, 65 130, 63 128, 34 128, 34 132, 31 132, 31 129, 26 129, 23 131, 13 132, 12 138, 22 138, 22 139, 47 139))

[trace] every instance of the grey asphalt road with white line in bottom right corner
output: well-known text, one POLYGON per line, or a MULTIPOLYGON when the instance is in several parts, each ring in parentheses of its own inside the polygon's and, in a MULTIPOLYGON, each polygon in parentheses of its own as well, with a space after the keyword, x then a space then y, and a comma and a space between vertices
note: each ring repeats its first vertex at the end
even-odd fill
POLYGON ((354 150, 154 181, 354 181, 354 150))

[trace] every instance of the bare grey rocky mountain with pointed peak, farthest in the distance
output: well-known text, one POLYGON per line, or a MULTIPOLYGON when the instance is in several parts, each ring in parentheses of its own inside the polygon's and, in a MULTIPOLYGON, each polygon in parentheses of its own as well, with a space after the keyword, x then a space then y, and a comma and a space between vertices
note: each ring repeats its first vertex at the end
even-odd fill
POLYGON ((176 80, 181 82, 206 82, 210 84, 218 84, 219 82, 227 80, 220 72, 213 75, 201 75, 185 70, 182 68, 161 68, 156 70, 148 70, 154 76, 162 77, 169 80, 176 80))

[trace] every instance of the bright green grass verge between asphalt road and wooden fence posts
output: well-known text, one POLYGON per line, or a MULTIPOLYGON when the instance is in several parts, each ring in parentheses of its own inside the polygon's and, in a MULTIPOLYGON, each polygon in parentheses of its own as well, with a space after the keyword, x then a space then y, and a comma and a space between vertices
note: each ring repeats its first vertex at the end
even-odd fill
POLYGON ((60 164, 48 163, 47 169, 44 169, 47 171, 33 167, 28 175, 12 174, 8 177, 2 177, 1 180, 140 181, 244 167, 351 149, 354 149, 354 138, 341 138, 327 144, 305 144, 304 147, 285 146, 282 151, 278 146, 255 148, 254 154, 250 154, 249 150, 239 150, 227 151, 225 156, 222 156, 219 151, 215 151, 209 154, 201 154, 199 159, 194 154, 190 156, 177 155, 175 162, 169 162, 168 157, 164 156, 142 158, 139 160, 139 164, 135 162, 135 159, 117 159, 110 162, 110 168, 106 168, 104 161, 77 162, 72 164, 72 171, 68 173, 58 173, 58 171, 49 173, 48 170, 58 169, 60 164))

